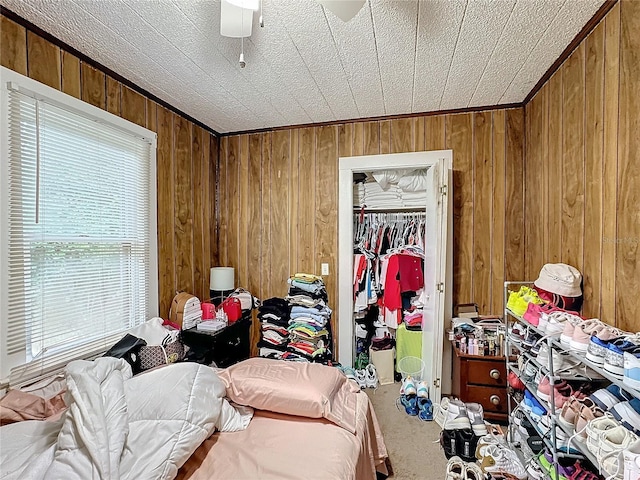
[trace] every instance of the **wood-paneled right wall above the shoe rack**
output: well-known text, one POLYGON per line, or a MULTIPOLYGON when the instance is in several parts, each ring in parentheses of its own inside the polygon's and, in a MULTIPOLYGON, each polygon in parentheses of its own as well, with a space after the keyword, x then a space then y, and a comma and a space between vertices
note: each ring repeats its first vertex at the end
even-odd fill
POLYGON ((526 105, 525 277, 584 275, 583 313, 640 331, 640 2, 621 0, 526 105))

